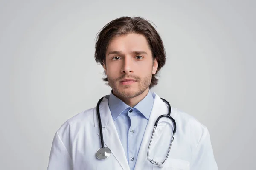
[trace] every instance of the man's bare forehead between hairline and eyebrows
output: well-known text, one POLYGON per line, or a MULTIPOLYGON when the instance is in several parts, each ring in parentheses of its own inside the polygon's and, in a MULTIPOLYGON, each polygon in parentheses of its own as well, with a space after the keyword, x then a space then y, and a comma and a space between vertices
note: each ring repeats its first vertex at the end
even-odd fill
POLYGON ((107 51, 150 51, 148 40, 144 35, 131 33, 113 37, 107 51))

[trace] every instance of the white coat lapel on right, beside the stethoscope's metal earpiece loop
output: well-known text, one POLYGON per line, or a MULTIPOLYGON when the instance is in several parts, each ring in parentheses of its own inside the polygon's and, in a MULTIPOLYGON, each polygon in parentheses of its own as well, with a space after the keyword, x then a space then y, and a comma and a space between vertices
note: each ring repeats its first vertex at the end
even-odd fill
MULTIPOLYGON (((143 140, 140 145, 140 150, 138 153, 138 158, 137 158, 134 170, 142 170, 145 161, 148 161, 147 160, 148 145, 149 145, 149 142, 152 136, 152 131, 154 129, 154 124, 157 118, 160 115, 168 114, 168 106, 165 104, 165 102, 162 101, 162 99, 157 94, 155 95, 156 96, 154 98, 153 108, 151 110, 151 114, 148 120, 147 127, 145 129, 143 140)), ((166 121, 166 120, 167 120, 166 118, 161 118, 160 122, 166 121)), ((163 129, 166 127, 165 122, 162 122, 161 125, 160 125, 160 122, 158 122, 157 130, 154 133, 154 137, 151 142, 151 147, 149 152, 149 156, 151 158, 154 156, 154 153, 152 153, 151 151, 154 148, 155 144, 157 144, 157 140, 159 139, 159 136, 161 136, 163 129)))

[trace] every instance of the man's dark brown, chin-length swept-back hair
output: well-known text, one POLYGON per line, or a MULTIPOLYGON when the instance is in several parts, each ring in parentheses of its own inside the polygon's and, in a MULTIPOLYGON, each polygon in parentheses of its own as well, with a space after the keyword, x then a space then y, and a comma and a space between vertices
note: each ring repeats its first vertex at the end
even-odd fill
MULTIPOLYGON (((152 74, 152 80, 149 86, 149 88, 152 88, 153 86, 157 85, 158 79, 156 76, 158 71, 160 71, 166 62, 166 53, 159 33, 148 22, 148 20, 145 20, 142 17, 125 16, 109 22, 97 34, 94 58, 97 63, 100 63, 103 66, 106 61, 106 51, 111 39, 115 36, 130 33, 144 35, 148 40, 148 45, 151 49, 153 60, 157 59, 158 68, 156 74, 152 74)), ((103 80, 108 81, 108 78, 103 78, 103 80)))

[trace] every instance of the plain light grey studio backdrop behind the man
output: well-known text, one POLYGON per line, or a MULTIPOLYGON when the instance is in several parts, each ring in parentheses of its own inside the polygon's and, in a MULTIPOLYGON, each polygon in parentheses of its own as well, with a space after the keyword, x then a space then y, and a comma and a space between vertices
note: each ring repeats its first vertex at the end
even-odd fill
POLYGON ((151 89, 209 129, 219 170, 255 170, 255 1, 0 1, 0 169, 45 170, 52 139, 111 88, 98 31, 152 21, 167 61, 151 89))

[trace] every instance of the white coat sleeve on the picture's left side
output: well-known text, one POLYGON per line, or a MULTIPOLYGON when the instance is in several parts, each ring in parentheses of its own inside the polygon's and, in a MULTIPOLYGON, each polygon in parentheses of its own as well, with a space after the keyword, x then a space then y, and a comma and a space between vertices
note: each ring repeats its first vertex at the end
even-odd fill
POLYGON ((72 159, 58 132, 53 138, 47 170, 72 170, 72 159))

